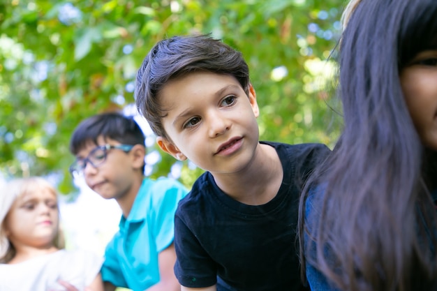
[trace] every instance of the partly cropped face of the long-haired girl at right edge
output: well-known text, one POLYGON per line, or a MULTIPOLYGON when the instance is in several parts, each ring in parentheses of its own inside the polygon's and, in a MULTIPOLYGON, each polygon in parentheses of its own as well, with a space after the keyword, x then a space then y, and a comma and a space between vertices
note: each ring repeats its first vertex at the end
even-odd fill
POLYGON ((437 151, 437 50, 417 54, 401 71, 401 85, 422 143, 437 151))

